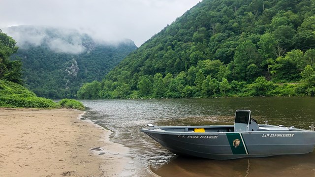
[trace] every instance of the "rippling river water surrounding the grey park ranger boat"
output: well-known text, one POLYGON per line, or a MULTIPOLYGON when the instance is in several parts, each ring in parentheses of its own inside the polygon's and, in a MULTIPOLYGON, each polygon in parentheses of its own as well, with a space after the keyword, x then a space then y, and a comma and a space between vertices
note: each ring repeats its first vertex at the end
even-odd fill
POLYGON ((310 129, 315 98, 258 97, 160 100, 81 100, 86 118, 110 129, 111 141, 130 148, 136 176, 151 177, 315 177, 315 152, 236 160, 184 158, 161 147, 139 130, 155 125, 233 124, 235 110, 249 109, 259 124, 310 129))

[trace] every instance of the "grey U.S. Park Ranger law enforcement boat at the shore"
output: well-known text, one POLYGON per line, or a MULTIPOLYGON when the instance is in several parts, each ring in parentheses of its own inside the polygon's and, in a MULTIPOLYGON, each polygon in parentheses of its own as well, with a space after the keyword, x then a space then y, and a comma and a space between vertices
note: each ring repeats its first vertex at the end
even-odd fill
POLYGON ((314 125, 304 130, 258 124, 250 110, 236 110, 234 125, 148 124, 141 131, 174 154, 216 160, 305 154, 315 146, 314 125))

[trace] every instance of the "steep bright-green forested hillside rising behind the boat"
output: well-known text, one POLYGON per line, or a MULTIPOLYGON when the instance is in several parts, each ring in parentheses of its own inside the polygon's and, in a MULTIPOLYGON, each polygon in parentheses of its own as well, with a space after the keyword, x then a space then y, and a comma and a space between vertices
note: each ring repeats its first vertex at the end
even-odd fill
POLYGON ((80 98, 315 93, 314 0, 203 0, 80 98))

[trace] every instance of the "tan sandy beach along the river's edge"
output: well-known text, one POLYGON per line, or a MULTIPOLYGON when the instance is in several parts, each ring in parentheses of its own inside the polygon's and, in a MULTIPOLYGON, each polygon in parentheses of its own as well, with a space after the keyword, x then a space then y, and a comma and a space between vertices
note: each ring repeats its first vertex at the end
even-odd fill
POLYGON ((133 176, 128 148, 112 143, 109 130, 80 120, 83 114, 0 108, 0 176, 133 176))

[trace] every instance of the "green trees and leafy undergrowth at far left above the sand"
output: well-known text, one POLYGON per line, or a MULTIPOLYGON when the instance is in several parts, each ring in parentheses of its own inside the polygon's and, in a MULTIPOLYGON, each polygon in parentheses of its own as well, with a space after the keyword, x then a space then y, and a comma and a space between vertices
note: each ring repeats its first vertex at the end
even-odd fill
POLYGON ((0 107, 57 107, 53 100, 37 97, 21 85, 22 63, 9 59, 18 50, 15 44, 0 29, 0 107))

